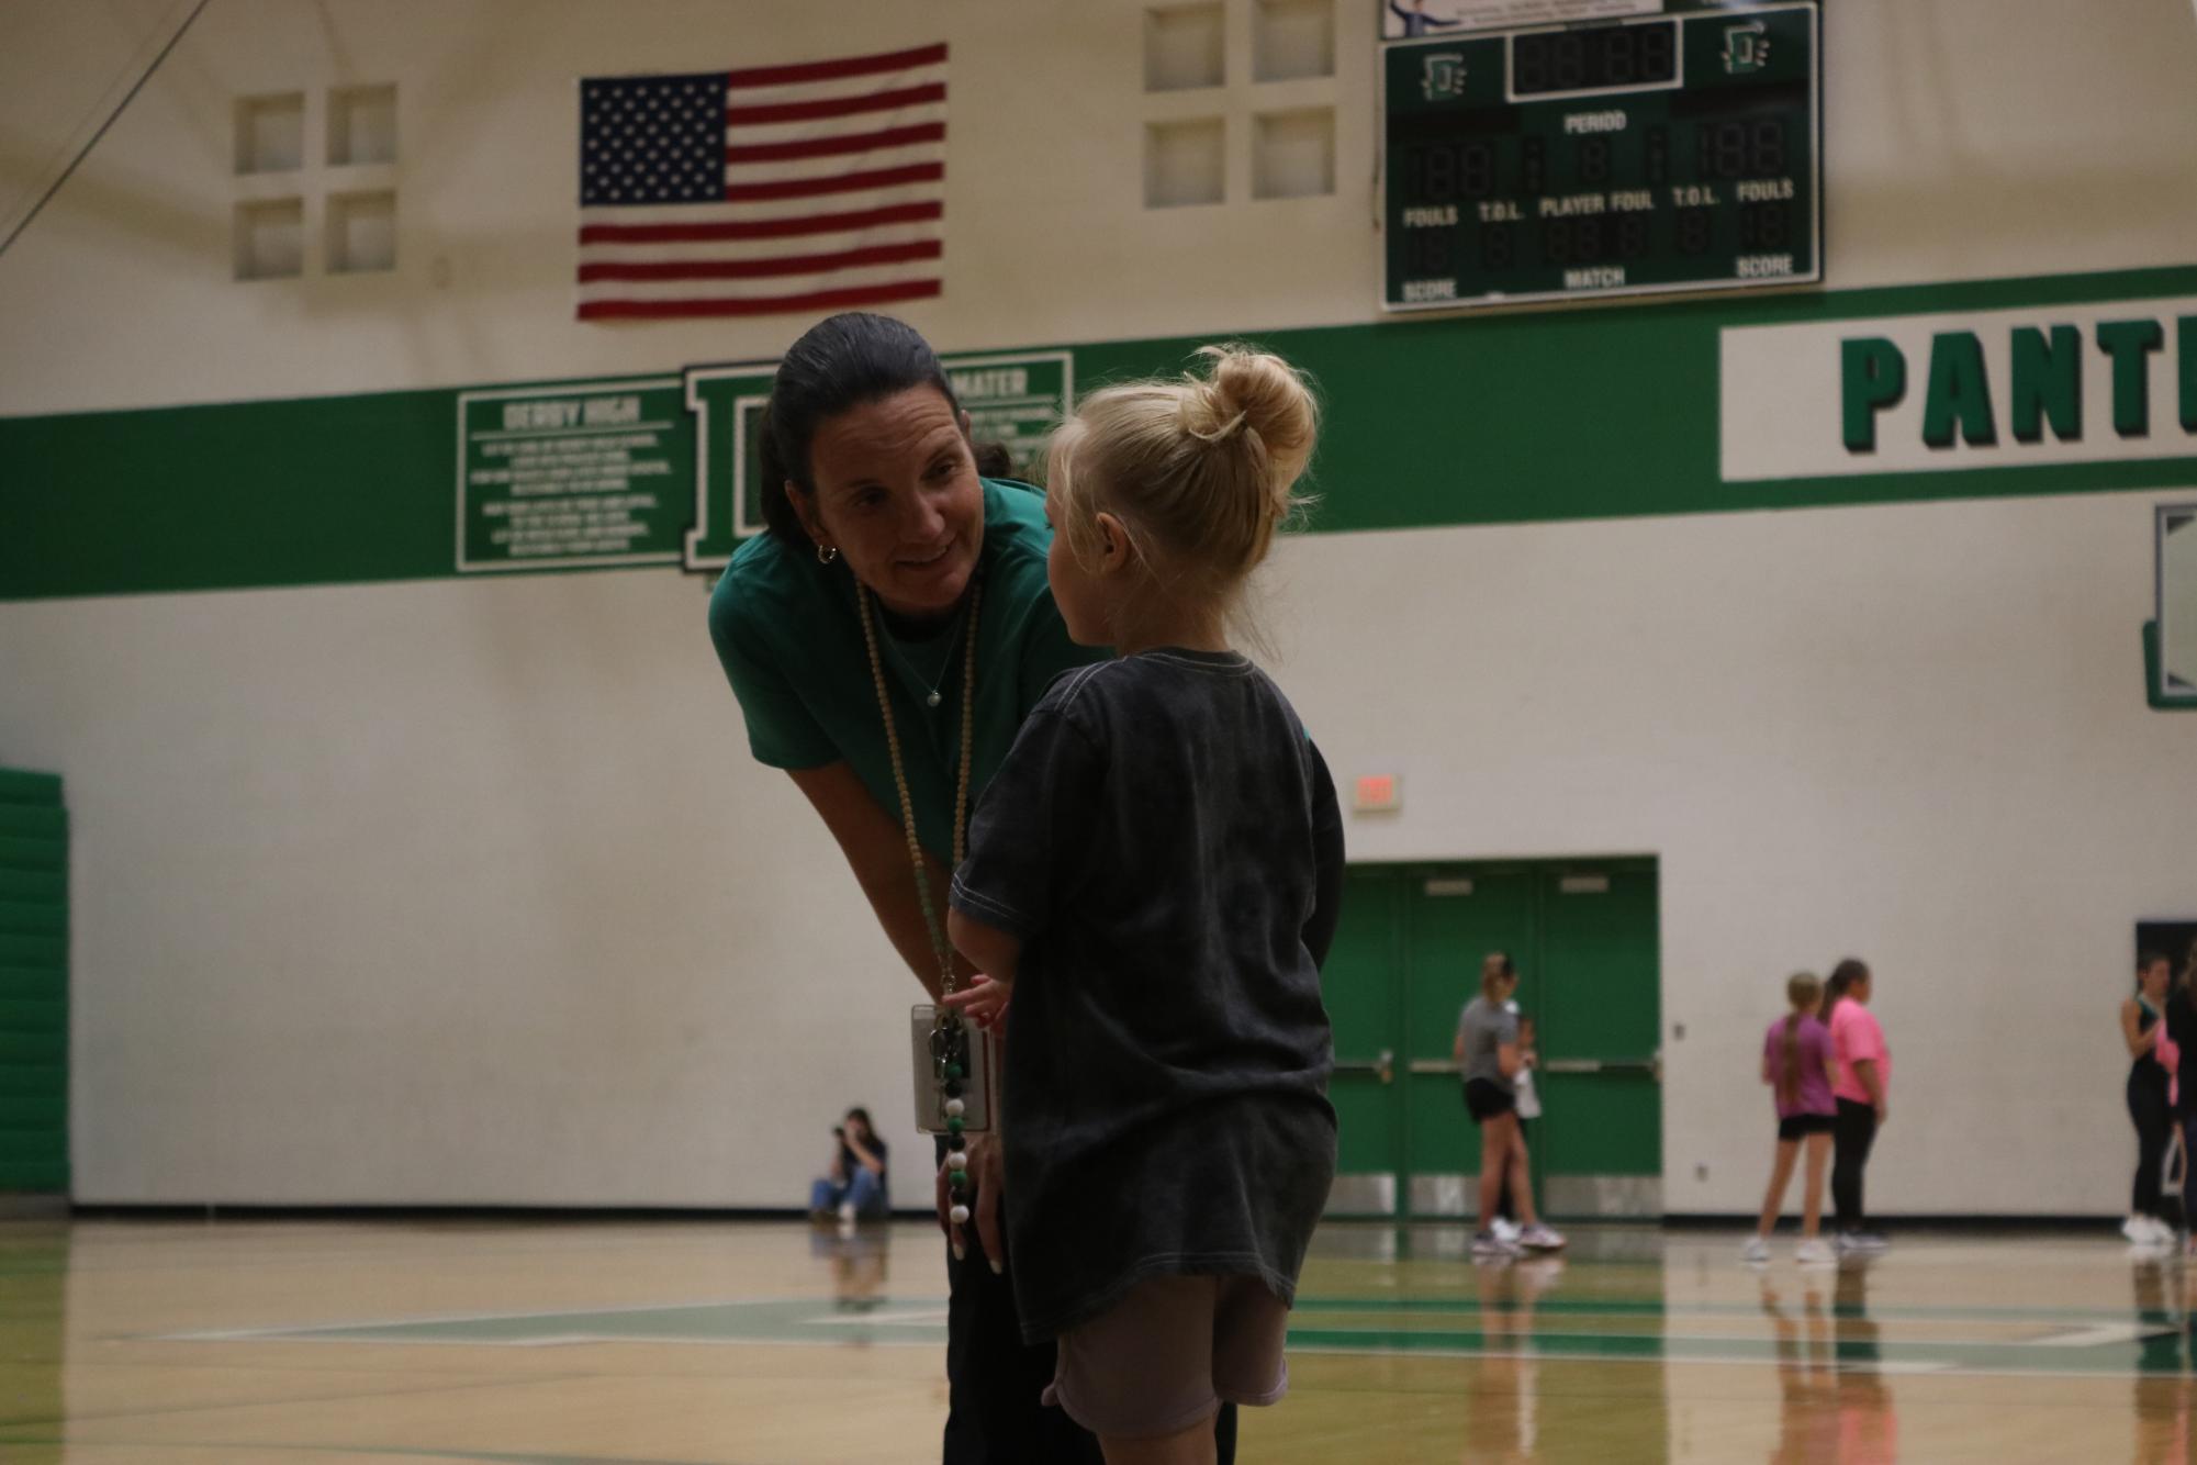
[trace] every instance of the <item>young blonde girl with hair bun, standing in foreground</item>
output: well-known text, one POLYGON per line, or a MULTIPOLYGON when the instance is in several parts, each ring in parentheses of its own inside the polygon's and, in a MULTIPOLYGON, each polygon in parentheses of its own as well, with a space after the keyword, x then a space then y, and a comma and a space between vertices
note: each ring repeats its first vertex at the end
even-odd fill
POLYGON ((1233 650, 1316 409, 1281 358, 1107 387, 1055 435, 1048 564, 1116 657, 1030 712, 969 826, 949 1002, 1006 1019, 1008 1261, 1048 1397, 1114 1465, 1215 1458, 1274 1404, 1336 1164, 1320 962, 1342 819, 1281 690, 1233 650), (1013 1008, 1008 1008, 1013 997, 1013 1008))

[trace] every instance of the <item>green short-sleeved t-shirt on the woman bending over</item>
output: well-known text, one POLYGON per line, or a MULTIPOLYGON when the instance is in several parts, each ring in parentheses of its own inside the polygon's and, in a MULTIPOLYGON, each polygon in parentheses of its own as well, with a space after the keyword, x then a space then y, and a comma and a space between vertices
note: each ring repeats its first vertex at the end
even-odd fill
MULTIPOLYGON (((1098 661, 1103 648, 1077 646, 1046 586, 1044 494, 1026 483, 984 479, 984 549, 978 573, 984 602, 975 630, 975 745, 969 802, 975 804, 1022 718, 1057 674, 1098 661)), ((877 611, 877 600, 870 600, 877 611)), ((960 775, 962 644, 958 617, 936 635, 894 635, 879 617, 879 657, 901 734, 916 839, 951 861, 953 784, 960 775), (938 690, 938 707, 927 707, 938 690)), ((901 819, 892 756, 877 712, 877 685, 855 611, 846 562, 817 564, 771 534, 740 545, 710 595, 710 639, 747 718, 747 747, 773 769, 852 764, 877 806, 901 819)))

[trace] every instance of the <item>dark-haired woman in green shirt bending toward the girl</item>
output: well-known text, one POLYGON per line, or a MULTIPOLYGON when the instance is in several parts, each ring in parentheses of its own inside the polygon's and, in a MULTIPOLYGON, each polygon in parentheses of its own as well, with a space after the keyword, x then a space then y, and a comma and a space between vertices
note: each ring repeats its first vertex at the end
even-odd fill
MULTIPOLYGON (((710 637, 756 760, 784 769, 808 797, 885 936, 936 997, 940 958, 910 863, 877 681, 892 705, 943 927, 958 791, 967 786, 973 804, 1046 685, 1103 652, 1074 646, 1052 604, 1044 494, 978 477, 969 415, 912 327, 848 312, 793 343, 765 413, 762 479, 769 534, 725 567, 710 637)), ((1039 1406, 1052 1346, 1022 1344, 1000 1274, 997 1151, 984 1136, 969 1147, 969 1171, 984 1256, 947 1263, 945 1458, 1096 1465, 1096 1441, 1039 1406)), ((1230 1410, 1224 1461, 1233 1425, 1230 1410)))

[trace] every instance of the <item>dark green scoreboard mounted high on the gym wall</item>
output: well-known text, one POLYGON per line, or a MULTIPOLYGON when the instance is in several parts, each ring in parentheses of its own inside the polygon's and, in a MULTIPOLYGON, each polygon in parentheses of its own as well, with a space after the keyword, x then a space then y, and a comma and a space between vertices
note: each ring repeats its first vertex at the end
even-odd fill
POLYGON ((1821 279, 1819 42, 1797 0, 1389 46, 1382 303, 1821 279))

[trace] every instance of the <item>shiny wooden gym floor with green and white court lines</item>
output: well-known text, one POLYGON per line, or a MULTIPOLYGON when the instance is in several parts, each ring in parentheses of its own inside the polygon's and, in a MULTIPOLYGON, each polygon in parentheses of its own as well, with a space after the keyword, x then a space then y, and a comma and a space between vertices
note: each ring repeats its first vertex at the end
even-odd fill
MULTIPOLYGON (((811 1465, 938 1458, 934 1230, 0 1223, 0 1461, 811 1465)), ((2197 1267, 1914 1234, 1331 1226, 1246 1465, 2197 1458, 2197 1267)), ((1041 1465, 1041 1463, 1033 1463, 1041 1465)))

